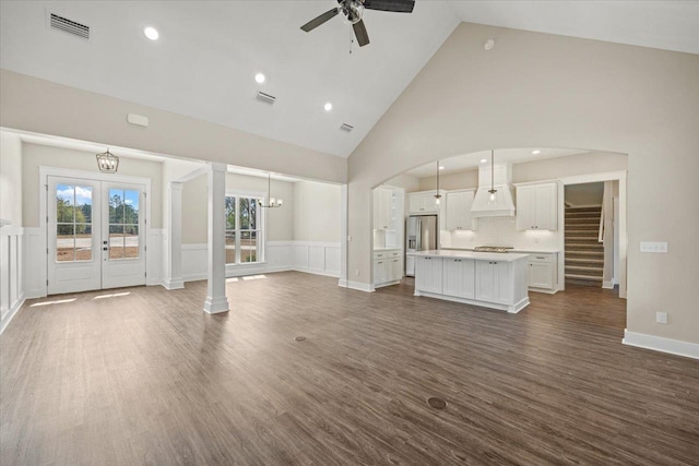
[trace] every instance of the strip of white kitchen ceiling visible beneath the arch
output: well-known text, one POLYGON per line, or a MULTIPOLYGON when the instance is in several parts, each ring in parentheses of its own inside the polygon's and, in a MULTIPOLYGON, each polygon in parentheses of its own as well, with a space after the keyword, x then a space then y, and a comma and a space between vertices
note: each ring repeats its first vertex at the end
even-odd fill
MULTIPOLYGON (((544 158, 565 157, 567 155, 582 154, 590 151, 579 151, 574 148, 499 148, 495 151, 495 164, 518 164, 521 162, 541 160, 544 158), (532 154, 533 151, 540 151, 538 154, 532 154)), ((471 154, 457 155, 455 157, 439 160, 439 165, 445 167, 439 170, 439 175, 459 174, 462 171, 474 170, 481 165, 490 166, 490 151, 474 152, 471 154), (482 163, 482 160, 486 160, 482 163)), ((419 167, 406 171, 417 178, 434 177, 437 172, 437 163, 425 164, 419 167)))

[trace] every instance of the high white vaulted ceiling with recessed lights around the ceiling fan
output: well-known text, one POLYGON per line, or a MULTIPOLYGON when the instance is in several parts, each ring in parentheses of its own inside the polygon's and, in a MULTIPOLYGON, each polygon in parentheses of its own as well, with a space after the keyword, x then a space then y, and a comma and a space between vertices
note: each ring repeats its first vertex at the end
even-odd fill
POLYGON ((696 1, 417 0, 413 14, 367 11, 371 44, 352 55, 340 17, 299 29, 334 4, 2 1, 0 65, 346 157, 461 21, 699 53, 696 1), (46 11, 91 26, 90 41, 48 28, 46 11))

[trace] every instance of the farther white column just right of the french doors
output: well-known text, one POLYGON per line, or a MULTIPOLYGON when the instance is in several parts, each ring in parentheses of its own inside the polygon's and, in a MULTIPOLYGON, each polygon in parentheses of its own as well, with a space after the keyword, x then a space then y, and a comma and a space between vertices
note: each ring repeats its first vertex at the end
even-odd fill
POLYGON ((185 288, 182 279, 182 183, 170 181, 169 217, 167 219, 167 251, 165 264, 165 288, 185 288))

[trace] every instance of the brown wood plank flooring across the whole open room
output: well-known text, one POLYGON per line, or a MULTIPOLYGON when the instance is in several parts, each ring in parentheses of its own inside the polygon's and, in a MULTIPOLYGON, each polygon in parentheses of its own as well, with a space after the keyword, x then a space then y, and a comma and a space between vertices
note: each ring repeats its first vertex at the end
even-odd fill
POLYGON ((228 283, 223 315, 203 282, 28 301, 0 340, 1 462, 699 464, 699 362, 623 346, 613 291, 511 315, 412 289, 289 272, 228 283))

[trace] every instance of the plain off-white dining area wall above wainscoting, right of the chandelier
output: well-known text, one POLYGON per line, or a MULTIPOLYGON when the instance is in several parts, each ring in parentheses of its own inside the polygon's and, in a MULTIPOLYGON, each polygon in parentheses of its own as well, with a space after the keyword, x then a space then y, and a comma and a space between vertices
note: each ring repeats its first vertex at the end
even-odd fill
POLYGON ((294 186, 294 240, 340 242, 339 184, 298 181, 294 186))

